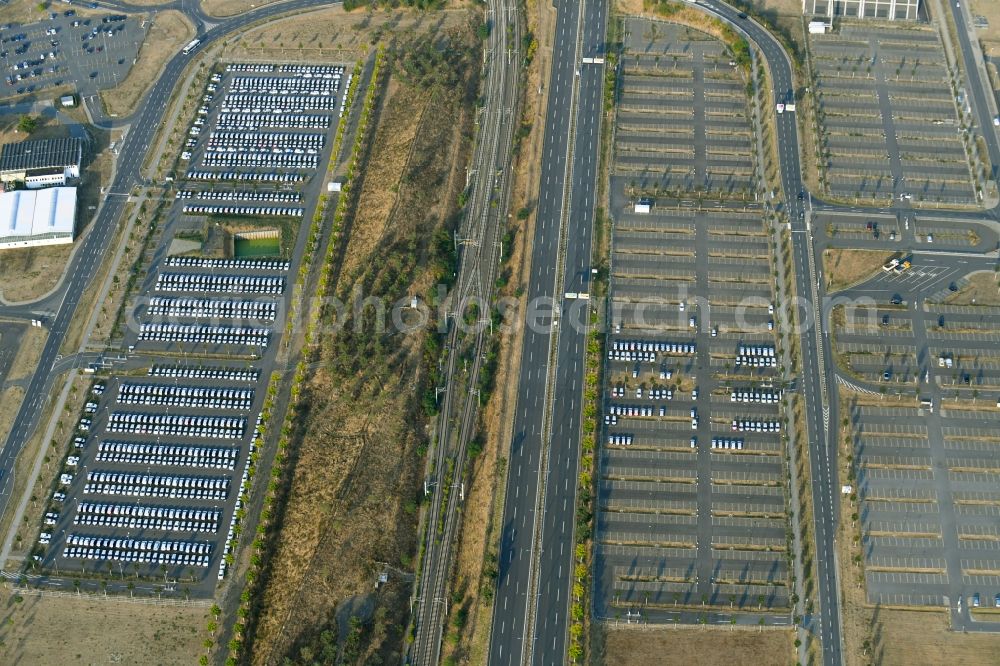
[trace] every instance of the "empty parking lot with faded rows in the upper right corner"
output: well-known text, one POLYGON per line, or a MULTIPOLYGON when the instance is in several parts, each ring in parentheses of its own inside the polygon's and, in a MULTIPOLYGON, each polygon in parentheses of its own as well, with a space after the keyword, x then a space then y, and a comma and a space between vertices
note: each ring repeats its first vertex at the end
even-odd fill
POLYGON ((945 54, 931 27, 841 22, 809 36, 828 191, 970 203, 974 180, 945 54))

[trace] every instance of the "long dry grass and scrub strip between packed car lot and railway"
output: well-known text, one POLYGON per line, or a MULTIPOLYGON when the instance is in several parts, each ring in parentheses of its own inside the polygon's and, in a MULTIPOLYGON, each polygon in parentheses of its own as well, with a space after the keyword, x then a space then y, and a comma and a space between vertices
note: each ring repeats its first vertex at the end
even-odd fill
MULTIPOLYGON (((464 186, 472 131, 468 86, 479 52, 469 16, 462 27, 436 32, 438 44, 450 44, 445 52, 421 30, 393 56, 357 212, 344 228, 344 260, 333 272, 342 300, 354 288, 390 302, 411 293, 426 300, 440 277, 432 239, 464 186)), ((343 663, 401 658, 410 586, 393 574, 372 592, 379 562, 409 570, 416 551, 426 332, 380 333, 367 317, 357 326, 350 317, 324 335, 303 391, 308 408, 295 433, 289 496, 251 625, 254 664, 321 649, 322 632, 346 629, 338 608, 356 599, 369 611, 358 613, 343 663)))

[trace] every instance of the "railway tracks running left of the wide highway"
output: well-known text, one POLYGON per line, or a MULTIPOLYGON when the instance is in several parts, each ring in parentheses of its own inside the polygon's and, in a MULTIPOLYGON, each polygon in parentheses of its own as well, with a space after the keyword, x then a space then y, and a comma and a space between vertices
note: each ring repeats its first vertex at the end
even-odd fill
MULTIPOLYGON (((487 21, 491 27, 486 49, 484 94, 486 105, 478 118, 479 136, 474 159, 469 165, 474 172, 472 193, 460 236, 464 239, 459 257, 457 288, 450 295, 452 310, 463 313, 466 306, 476 299, 484 313, 492 304, 492 295, 499 260, 499 239, 503 233, 506 211, 509 207, 511 146, 514 132, 514 110, 517 107, 520 63, 517 54, 506 47, 519 44, 520 19, 517 6, 508 0, 490 0, 487 21), (493 193, 499 192, 500 205, 493 204, 493 193)), ((486 316, 486 315, 484 315, 486 316)), ((452 318, 454 322, 457 318, 452 318)), ((476 413, 480 397, 464 387, 464 400, 458 399, 463 389, 462 378, 474 381, 479 376, 483 353, 490 329, 480 322, 473 343, 475 359, 466 373, 460 370, 465 353, 458 333, 460 327, 452 323, 448 337, 447 371, 444 374, 444 393, 437 423, 437 445, 434 455, 434 480, 432 499, 426 511, 424 556, 421 562, 417 608, 414 617, 416 635, 410 649, 412 663, 433 666, 440 661, 441 638, 447 617, 448 583, 450 582, 452 546, 455 543, 458 521, 461 517, 459 502, 461 490, 455 484, 464 478, 465 451, 468 441, 475 435, 476 413), (457 438, 452 430, 457 425, 457 438), (448 461, 454 467, 451 486, 445 477, 448 461), (443 505, 446 503, 446 505, 443 505), (439 516, 444 516, 443 526, 438 527, 439 516)), ((430 485, 430 484, 429 484, 430 485)))

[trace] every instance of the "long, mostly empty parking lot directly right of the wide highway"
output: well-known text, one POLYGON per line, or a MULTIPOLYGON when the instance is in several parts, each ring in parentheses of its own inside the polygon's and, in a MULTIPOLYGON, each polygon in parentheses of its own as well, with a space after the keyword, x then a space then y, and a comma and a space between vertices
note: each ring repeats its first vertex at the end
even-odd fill
MULTIPOLYGON (((727 61, 713 69, 725 60, 718 43, 651 25, 626 22, 622 89, 632 102, 619 111, 615 137, 597 605, 605 617, 641 609, 650 621, 678 605, 781 611, 789 603, 787 521, 770 250, 760 211, 729 198, 751 182, 746 100, 727 61), (693 77, 657 76, 675 54, 693 77), (642 93, 643 111, 629 92, 652 90, 650 79, 661 83, 642 93), (720 80, 724 122, 712 111, 700 117, 697 103, 720 80), (678 119, 688 118, 678 143, 694 146, 683 173, 671 171, 671 152, 640 157, 631 148, 637 131, 622 131, 655 134, 671 96, 678 119), (726 173, 716 170, 722 135, 726 173), (649 197, 642 212, 631 196, 633 187, 699 184, 723 199, 697 206, 649 197)), ((669 121, 667 133, 677 127, 669 121)))

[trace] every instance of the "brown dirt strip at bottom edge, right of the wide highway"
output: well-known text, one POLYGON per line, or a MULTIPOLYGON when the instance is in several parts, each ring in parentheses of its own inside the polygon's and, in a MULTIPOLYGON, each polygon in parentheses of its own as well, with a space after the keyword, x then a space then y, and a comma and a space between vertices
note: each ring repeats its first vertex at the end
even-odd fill
POLYGON ((785 666, 795 663, 792 640, 787 630, 609 628, 595 661, 604 666, 785 666))

